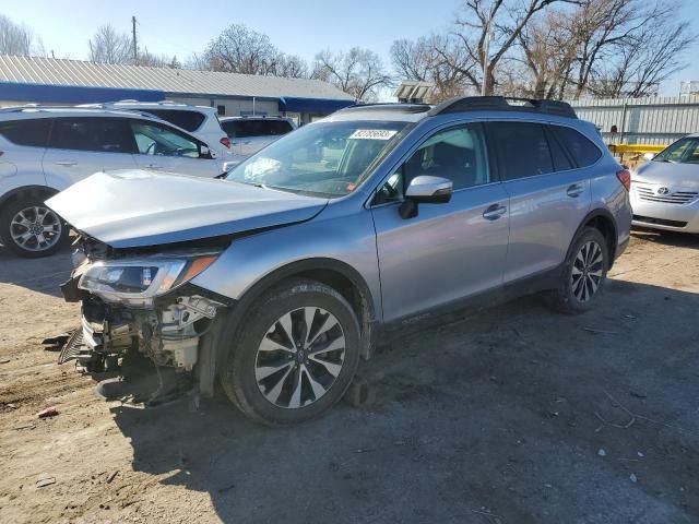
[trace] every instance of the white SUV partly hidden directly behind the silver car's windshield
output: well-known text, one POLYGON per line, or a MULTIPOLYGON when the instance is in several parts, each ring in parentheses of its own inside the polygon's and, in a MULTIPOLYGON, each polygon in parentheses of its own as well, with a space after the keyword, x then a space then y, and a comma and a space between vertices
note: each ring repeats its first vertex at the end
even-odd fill
POLYGON ((230 139, 233 153, 244 157, 296 129, 292 120, 282 117, 228 117, 221 119, 221 127, 230 139))

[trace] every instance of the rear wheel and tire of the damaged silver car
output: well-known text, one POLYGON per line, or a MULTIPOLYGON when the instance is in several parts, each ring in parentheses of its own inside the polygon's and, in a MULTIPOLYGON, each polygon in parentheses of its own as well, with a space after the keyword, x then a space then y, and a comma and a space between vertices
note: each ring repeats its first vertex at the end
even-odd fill
MULTIPOLYGON (((596 260, 594 255, 591 255, 589 262, 594 262, 593 259, 596 260)), ((547 295, 547 303, 568 314, 589 311, 604 290, 608 267, 609 253, 604 235, 599 229, 585 227, 572 242, 564 266, 560 285, 547 295), (591 246, 592 248, 590 248, 591 246), (584 261, 581 265, 581 258, 584 259, 585 252, 593 253, 597 250, 601 255, 599 264, 590 263, 587 270, 583 269, 584 261), (574 276, 573 272, 576 272, 574 276), (599 278, 596 277, 597 272, 599 278)))

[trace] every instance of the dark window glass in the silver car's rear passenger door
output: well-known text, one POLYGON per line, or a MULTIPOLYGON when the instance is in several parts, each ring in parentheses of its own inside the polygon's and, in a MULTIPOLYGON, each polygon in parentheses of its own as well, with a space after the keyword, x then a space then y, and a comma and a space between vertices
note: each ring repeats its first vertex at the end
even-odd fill
POLYGON ((502 180, 553 172, 552 153, 542 124, 491 122, 488 126, 498 148, 502 180))

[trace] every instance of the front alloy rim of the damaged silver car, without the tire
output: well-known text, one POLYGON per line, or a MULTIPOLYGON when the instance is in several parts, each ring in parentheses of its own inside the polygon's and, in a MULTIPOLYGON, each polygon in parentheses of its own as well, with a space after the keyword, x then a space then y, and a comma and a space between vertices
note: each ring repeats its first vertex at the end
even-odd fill
POLYGON ((337 319, 321 308, 298 308, 268 329, 258 347, 254 378, 268 402, 295 409, 328 393, 344 358, 345 334, 337 319))

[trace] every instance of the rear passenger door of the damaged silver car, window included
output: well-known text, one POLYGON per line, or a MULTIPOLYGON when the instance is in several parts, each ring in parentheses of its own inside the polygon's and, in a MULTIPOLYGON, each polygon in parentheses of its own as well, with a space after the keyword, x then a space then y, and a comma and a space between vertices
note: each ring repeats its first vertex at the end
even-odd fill
POLYGON ((508 283, 564 262, 590 210, 590 180, 548 124, 507 120, 487 127, 498 147, 499 174, 510 199, 508 283))

